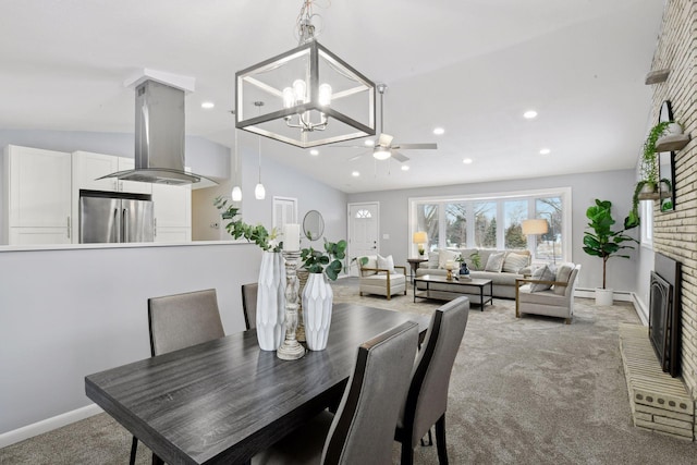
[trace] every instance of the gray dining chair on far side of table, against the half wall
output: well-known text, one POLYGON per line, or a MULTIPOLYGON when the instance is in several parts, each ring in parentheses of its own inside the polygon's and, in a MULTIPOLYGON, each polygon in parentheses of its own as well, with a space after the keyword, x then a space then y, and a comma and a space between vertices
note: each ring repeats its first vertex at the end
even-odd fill
MULTIPOLYGON (((215 289, 148 298, 150 355, 223 338, 215 289)), ((138 439, 131 444, 131 464, 135 463, 138 439)))

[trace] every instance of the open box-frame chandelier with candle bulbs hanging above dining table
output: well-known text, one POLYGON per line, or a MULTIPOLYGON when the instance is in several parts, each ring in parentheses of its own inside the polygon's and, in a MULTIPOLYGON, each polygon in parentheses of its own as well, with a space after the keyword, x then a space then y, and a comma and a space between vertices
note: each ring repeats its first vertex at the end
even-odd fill
POLYGON ((303 148, 375 135, 375 84, 316 40, 311 10, 304 0, 296 48, 235 74, 235 126, 303 148))

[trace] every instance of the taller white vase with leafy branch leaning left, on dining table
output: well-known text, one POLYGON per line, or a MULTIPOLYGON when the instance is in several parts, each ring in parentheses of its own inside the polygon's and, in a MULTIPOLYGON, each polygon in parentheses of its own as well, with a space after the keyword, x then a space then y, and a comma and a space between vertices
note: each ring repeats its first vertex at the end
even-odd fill
POLYGON ((234 238, 244 237, 264 250, 259 266, 257 289, 257 340, 262 351, 277 351, 285 339, 285 265, 277 242, 276 229, 271 232, 261 224, 250 225, 242 221, 240 208, 227 199, 217 197, 213 205, 223 220, 230 220, 225 230, 234 238))

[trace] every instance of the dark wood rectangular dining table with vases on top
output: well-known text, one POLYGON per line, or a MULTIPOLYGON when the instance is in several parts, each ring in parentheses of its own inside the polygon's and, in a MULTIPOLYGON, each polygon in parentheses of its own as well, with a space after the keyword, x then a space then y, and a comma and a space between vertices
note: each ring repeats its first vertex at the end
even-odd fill
POLYGON ((252 329, 89 375, 85 392, 169 464, 248 463, 341 397, 359 344, 408 320, 426 332, 425 316, 335 304, 327 348, 301 359, 252 329))

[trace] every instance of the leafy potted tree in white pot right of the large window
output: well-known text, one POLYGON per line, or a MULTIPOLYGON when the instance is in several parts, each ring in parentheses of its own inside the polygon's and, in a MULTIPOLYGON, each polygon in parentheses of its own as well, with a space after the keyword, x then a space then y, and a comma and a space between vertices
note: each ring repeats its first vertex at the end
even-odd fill
POLYGON ((612 257, 629 258, 628 255, 620 254, 620 250, 634 248, 627 242, 637 242, 626 234, 627 228, 613 231, 615 223, 612 218, 612 203, 610 200, 598 200, 596 205, 588 207, 586 217, 588 218, 587 231, 584 232, 584 252, 594 257, 602 258, 602 287, 596 289, 596 305, 612 305, 612 289, 607 289, 607 265, 612 257))

